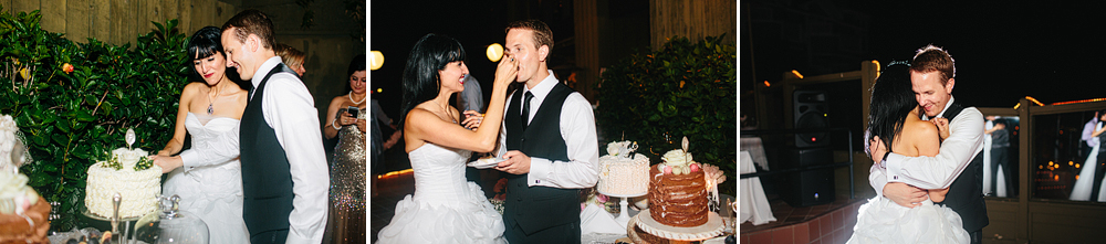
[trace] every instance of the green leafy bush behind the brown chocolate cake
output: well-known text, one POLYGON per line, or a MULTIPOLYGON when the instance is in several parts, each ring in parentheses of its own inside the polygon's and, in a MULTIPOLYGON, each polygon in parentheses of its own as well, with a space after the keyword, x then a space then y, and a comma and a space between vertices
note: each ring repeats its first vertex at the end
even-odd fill
POLYGON ((637 141, 653 162, 687 137, 696 161, 726 172, 720 192, 735 195, 737 85, 732 43, 722 36, 698 43, 672 38, 659 51, 634 54, 603 73, 595 117, 605 138, 637 141))

